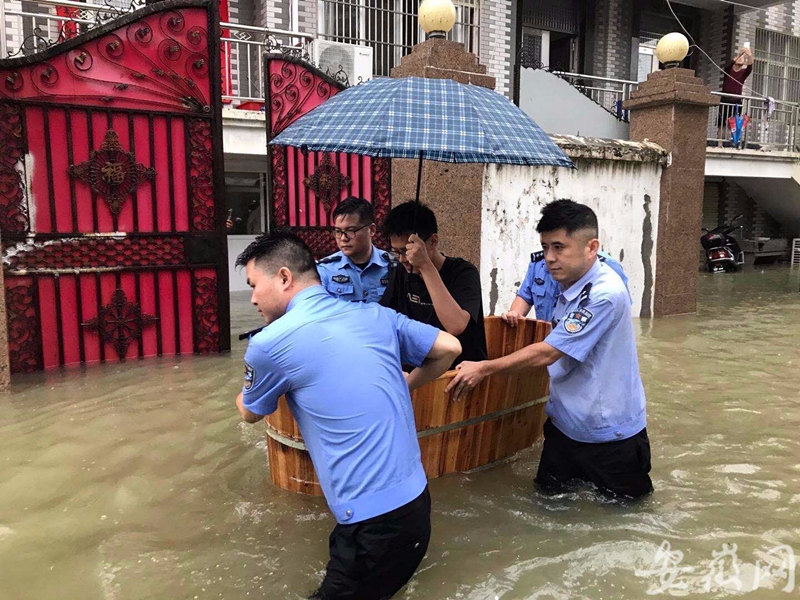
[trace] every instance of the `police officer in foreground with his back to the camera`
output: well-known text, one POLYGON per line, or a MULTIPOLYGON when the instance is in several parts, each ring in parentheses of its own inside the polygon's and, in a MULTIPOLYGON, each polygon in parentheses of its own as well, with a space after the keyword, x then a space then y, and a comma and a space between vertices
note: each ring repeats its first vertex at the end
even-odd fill
POLYGON ((236 264, 267 323, 250 338, 236 406, 255 423, 286 395, 337 521, 311 598, 389 598, 413 575, 431 532, 409 391, 444 373, 461 345, 376 303, 339 302, 291 233, 260 236, 236 264), (401 364, 416 368, 406 378, 401 364))

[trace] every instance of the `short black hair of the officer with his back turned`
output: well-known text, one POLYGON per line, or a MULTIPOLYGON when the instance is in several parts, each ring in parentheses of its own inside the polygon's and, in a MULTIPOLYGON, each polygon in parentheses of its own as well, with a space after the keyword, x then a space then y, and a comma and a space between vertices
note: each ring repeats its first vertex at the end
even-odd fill
POLYGON ((312 274, 319 279, 311 249, 286 229, 258 236, 236 257, 236 266, 245 267, 251 260, 267 272, 287 267, 296 277, 312 274))

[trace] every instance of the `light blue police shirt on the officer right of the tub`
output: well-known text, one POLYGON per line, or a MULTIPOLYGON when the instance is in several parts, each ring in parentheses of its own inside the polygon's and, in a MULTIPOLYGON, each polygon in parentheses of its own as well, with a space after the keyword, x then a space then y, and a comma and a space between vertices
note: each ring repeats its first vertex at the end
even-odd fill
POLYGON ((579 442, 609 442, 646 425, 631 303, 622 279, 597 260, 559 296, 545 342, 566 356, 550 365, 546 411, 579 442))

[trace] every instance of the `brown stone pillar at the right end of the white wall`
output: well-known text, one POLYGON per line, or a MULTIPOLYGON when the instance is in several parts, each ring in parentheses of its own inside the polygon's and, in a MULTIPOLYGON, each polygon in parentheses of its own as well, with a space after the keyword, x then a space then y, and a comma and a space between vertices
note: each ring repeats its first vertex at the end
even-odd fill
POLYGON ((661 176, 653 316, 690 313, 697 302, 708 108, 719 99, 690 69, 651 73, 623 104, 630 137, 671 156, 661 176))

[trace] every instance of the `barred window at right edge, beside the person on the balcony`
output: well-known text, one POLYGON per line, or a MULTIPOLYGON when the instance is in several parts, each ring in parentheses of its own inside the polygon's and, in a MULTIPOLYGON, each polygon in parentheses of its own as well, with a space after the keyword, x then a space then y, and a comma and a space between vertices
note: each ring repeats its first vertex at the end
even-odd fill
MULTIPOLYGON (((756 29, 754 54, 753 90, 776 100, 800 102, 800 38, 756 29)), ((749 95, 747 89, 744 94, 749 95)))

